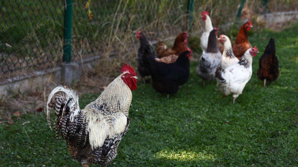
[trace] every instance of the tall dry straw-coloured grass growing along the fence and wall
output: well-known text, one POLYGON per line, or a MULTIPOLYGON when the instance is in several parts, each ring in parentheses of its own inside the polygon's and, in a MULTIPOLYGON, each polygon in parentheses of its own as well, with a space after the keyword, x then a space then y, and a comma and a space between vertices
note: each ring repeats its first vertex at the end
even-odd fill
MULTIPOLYGON (((73 30, 73 60, 80 61, 83 58, 97 54, 103 56, 103 59, 97 63, 94 70, 84 71, 85 75, 82 76, 81 80, 74 82, 72 87, 77 89, 77 92, 101 91, 104 86, 108 85, 119 74, 119 69, 124 62, 130 63, 136 68, 136 54, 139 43, 135 37, 136 31, 144 31, 150 40, 175 36, 181 31, 190 31, 190 27, 187 27, 186 1, 156 0, 144 2, 120 0, 119 4, 116 4, 114 7, 115 13, 106 17, 103 23, 97 23, 96 21, 90 23, 90 31, 93 32, 91 37, 84 36, 79 29, 73 30), (111 55, 113 55, 113 59, 110 58, 111 55)), ((255 21, 256 17, 264 11, 261 3, 262 1, 257 0, 247 1, 241 17, 255 21)), ((295 10, 298 6, 297 3, 294 0, 270 1, 269 11, 295 10)), ((238 6, 238 1, 195 1, 192 36, 198 37, 203 31, 202 11, 209 11, 213 25, 218 26, 233 23, 236 20, 238 6)), ((74 20, 77 20, 77 18, 74 18, 74 20)), ((263 25, 254 25, 254 30, 261 28, 263 28, 263 25)), ((229 32, 230 30, 227 31, 227 33, 229 32)), ((52 34, 52 36, 55 36, 55 34, 52 34)), ((52 55, 57 57, 57 59, 54 59, 51 62, 52 64, 46 67, 54 67, 61 62, 61 59, 58 58, 58 56, 62 55, 63 45, 61 41, 60 38, 57 38, 57 41, 53 41, 55 43, 53 45, 58 46, 60 49, 57 49, 58 52, 55 52, 56 56, 52 55)), ((38 43, 39 40, 36 42, 38 43)), ((52 52, 47 50, 43 52, 44 54, 52 54, 52 52)), ((33 68, 33 70, 35 69, 39 68, 33 68)), ((24 69, 14 74, 22 75, 27 73, 28 70, 24 69)), ((1 77, 3 79, 11 76, 12 73, 8 73, 1 77)), ((10 97, 5 97, 1 103, 1 113, 20 110, 21 112, 36 111, 36 108, 43 108, 45 106, 45 98, 51 89, 44 87, 24 94, 13 92, 10 97)))

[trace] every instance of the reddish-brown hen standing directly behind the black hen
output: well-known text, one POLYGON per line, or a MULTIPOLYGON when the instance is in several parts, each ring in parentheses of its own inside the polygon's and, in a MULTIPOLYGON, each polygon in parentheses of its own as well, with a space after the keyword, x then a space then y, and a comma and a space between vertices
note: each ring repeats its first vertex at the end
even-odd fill
POLYGON ((156 49, 157 57, 162 58, 170 55, 179 56, 182 52, 186 51, 184 45, 187 45, 187 37, 187 32, 182 32, 181 34, 179 34, 176 37, 172 48, 167 48, 167 45, 165 45, 164 42, 159 40, 156 49))

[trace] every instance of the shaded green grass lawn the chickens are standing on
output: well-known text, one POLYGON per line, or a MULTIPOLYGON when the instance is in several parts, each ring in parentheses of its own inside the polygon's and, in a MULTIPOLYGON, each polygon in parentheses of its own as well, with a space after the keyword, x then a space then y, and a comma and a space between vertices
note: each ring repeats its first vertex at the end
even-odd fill
MULTIPOLYGON (((298 166, 298 24, 279 33, 256 32, 249 39, 260 53, 235 105, 231 96, 217 93, 215 83, 201 86, 197 62, 191 63, 189 81, 170 99, 139 81, 128 133, 110 166, 298 166), (280 77, 263 88, 256 73, 270 37, 275 38, 280 77)), ((83 95, 80 106, 98 95, 83 95)), ((0 125, 0 166, 81 166, 66 143, 56 141, 45 114, 14 122, 0 125)))

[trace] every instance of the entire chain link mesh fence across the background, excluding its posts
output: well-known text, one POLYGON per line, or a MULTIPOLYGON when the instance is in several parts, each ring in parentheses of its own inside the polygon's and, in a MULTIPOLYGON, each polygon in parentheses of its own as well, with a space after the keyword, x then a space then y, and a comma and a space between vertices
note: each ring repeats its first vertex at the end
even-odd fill
MULTIPOLYGON (((0 79, 62 62, 66 1, 0 1, 0 79)), ((154 40, 179 34, 188 27, 201 30, 203 10, 210 11, 214 25, 233 21, 240 4, 240 0, 195 0, 194 12, 189 13, 193 15, 190 24, 189 1, 73 0, 72 61, 112 52, 129 53, 136 48, 135 31, 139 29, 154 40)), ((278 1, 282 4, 286 0, 278 1)), ((243 10, 248 14, 261 13, 262 4, 263 1, 246 1, 243 10)), ((291 1, 283 7, 291 10, 296 4, 297 1, 291 1)), ((269 1, 269 10, 278 8, 278 4, 269 1)))

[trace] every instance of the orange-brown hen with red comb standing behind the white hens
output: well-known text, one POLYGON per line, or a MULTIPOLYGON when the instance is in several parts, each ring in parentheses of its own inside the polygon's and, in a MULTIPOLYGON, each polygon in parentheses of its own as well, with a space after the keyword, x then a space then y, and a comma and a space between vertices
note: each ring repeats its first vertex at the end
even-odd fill
MULTIPOLYGON (((247 31, 249 31, 251 28, 252 28, 251 21, 247 21, 246 23, 244 23, 238 32, 235 43, 232 45, 234 55, 238 59, 241 58, 241 56, 247 51, 247 49, 252 48, 252 45, 248 40, 248 34, 247 34, 247 31)), ((222 45, 219 45, 219 49, 221 53, 223 53, 224 47, 222 45)))

